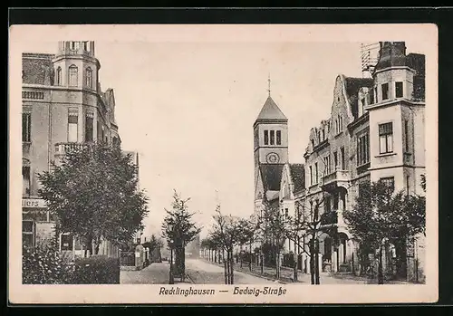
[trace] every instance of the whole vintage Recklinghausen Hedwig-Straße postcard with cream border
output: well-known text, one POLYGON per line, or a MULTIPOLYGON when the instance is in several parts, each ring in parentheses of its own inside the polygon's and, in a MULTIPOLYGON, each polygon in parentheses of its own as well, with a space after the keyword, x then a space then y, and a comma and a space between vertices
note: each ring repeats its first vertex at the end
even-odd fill
POLYGON ((14 25, 9 53, 10 302, 438 300, 435 24, 14 25))

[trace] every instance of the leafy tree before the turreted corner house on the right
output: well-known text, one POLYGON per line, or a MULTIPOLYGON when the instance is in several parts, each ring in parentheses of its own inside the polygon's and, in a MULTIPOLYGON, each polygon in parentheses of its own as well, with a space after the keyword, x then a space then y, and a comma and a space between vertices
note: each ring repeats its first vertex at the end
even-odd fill
POLYGON ((359 241, 362 255, 378 252, 378 283, 384 282, 384 247, 425 234, 425 205, 424 196, 394 192, 392 186, 380 180, 361 185, 355 207, 344 211, 344 220, 359 241))

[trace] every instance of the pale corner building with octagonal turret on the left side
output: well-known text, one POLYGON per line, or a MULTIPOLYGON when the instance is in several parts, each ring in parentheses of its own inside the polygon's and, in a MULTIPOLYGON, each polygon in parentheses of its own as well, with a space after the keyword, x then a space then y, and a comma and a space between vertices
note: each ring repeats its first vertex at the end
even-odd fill
MULTIPOLYGON (((113 90, 101 91, 94 42, 59 42, 57 53, 23 53, 23 243, 54 237, 55 218, 38 196, 38 174, 49 171, 68 150, 84 142, 120 145, 113 90)), ((72 235, 60 235, 60 249, 82 254, 72 235)), ((114 255, 109 243, 101 254, 114 255)))

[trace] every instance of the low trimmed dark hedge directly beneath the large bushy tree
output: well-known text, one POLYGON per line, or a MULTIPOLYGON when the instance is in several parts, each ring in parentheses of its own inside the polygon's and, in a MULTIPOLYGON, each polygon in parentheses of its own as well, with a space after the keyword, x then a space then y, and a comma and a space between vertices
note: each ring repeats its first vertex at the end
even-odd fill
POLYGON ((75 262, 74 284, 119 284, 120 259, 92 255, 75 262))

